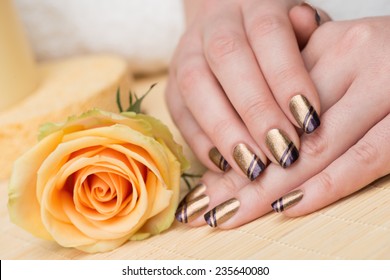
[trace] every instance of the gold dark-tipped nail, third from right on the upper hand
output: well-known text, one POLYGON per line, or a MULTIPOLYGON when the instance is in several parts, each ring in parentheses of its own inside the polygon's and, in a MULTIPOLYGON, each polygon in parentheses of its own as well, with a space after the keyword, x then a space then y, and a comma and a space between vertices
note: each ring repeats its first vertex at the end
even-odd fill
POLYGON ((238 144, 234 147, 233 157, 251 181, 255 180, 265 169, 265 164, 245 144, 238 144))

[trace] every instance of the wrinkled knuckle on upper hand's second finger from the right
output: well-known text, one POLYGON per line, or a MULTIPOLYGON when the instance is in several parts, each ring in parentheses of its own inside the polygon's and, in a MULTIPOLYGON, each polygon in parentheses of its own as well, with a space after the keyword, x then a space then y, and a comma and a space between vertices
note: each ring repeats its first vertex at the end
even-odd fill
POLYGON ((219 59, 235 53, 241 45, 240 37, 234 32, 217 32, 206 45, 206 55, 212 63, 216 63, 219 59))

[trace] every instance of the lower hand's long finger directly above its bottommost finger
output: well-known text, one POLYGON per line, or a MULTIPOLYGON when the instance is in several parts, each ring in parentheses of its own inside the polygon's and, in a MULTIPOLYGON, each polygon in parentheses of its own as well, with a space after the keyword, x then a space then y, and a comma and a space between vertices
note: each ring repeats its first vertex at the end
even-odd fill
MULTIPOLYGON (((241 188, 236 195, 232 196, 234 200, 227 200, 209 210, 205 216, 208 215, 211 220, 215 218, 210 217, 216 217, 220 221, 217 219, 213 222, 208 221, 208 223, 216 224, 220 228, 233 228, 264 215, 271 209, 270 205, 274 201, 288 191, 299 187, 302 182, 320 173, 343 155, 349 147, 352 147, 373 126, 386 117, 384 112, 390 111, 388 97, 379 89, 373 92, 372 88, 372 94, 367 95, 368 88, 369 85, 359 82, 351 85, 348 92, 324 113, 323 126, 313 135, 303 136, 299 163, 288 170, 275 170, 270 165, 264 172, 262 180, 241 188), (366 106, 364 114, 362 114, 362 104, 366 106), (376 110, 370 110, 370 108, 376 108, 376 110), (229 209, 230 213, 234 212, 234 215, 226 214, 224 217, 226 209, 229 209)), ((362 153, 365 153, 365 148, 362 149, 362 153)), ((344 173, 344 176, 345 174, 347 173, 344 173)))

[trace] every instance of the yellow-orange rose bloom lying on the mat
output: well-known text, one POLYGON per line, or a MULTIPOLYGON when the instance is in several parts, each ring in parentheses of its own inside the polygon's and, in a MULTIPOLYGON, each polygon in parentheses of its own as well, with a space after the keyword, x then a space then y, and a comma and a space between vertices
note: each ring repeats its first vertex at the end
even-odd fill
POLYGON ((44 125, 40 139, 14 165, 8 208, 15 224, 87 252, 172 224, 188 163, 158 120, 92 110, 44 125))

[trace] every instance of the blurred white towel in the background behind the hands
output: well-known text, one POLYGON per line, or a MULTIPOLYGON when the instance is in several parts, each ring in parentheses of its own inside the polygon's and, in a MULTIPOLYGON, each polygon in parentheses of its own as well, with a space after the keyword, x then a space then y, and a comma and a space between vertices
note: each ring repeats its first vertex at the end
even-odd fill
MULTIPOLYGON (((309 2, 337 20, 390 14, 390 0, 309 2)), ((15 3, 38 60, 106 52, 126 57, 135 72, 158 71, 168 65, 184 30, 182 0, 15 3)))

